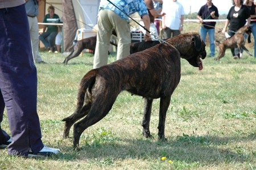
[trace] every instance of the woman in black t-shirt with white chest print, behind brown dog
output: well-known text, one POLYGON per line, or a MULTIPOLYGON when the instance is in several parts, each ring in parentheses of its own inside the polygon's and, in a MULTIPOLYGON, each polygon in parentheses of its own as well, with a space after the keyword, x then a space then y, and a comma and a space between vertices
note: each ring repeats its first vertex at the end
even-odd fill
MULTIPOLYGON (((241 27, 245 26, 246 19, 247 19, 247 26, 250 26, 251 16, 249 13, 249 9, 247 6, 243 5, 243 0, 233 0, 233 5, 226 17, 226 23, 222 30, 222 34, 225 34, 226 28, 229 25, 229 32, 230 36, 236 34, 237 30, 241 27)), ((240 53, 238 48, 231 49, 232 55, 234 59, 240 59, 240 53)))

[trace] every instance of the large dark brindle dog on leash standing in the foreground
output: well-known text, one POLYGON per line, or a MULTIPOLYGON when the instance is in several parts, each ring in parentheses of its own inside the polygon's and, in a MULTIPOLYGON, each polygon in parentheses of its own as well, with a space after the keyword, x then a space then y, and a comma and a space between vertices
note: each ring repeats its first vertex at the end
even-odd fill
POLYGON ((71 126, 86 116, 73 126, 73 147, 79 150, 82 132, 104 118, 118 94, 127 90, 144 98, 142 133, 146 138, 152 137, 150 115, 153 99, 160 98, 158 139, 166 140, 166 112, 180 81, 180 57, 201 70, 201 59, 207 55, 199 34, 178 35, 166 42, 86 73, 80 82, 76 110, 63 119, 63 138, 68 138, 71 126))

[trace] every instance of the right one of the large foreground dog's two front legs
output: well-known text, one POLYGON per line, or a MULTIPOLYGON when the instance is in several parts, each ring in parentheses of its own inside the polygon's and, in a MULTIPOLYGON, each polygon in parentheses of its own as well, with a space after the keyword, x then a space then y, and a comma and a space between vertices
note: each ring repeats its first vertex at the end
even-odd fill
POLYGON ((164 127, 166 122, 166 113, 170 105, 171 95, 160 98, 159 123, 158 123, 158 140, 167 140, 164 137, 164 127))

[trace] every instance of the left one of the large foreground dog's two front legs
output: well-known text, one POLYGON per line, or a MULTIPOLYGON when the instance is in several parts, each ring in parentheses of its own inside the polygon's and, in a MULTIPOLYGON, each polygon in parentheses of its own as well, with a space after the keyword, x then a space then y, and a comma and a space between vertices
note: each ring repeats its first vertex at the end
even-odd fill
POLYGON ((142 120, 143 131, 142 134, 145 138, 152 138, 150 135, 150 117, 151 117, 151 109, 152 109, 153 99, 145 98, 144 99, 144 114, 142 120))

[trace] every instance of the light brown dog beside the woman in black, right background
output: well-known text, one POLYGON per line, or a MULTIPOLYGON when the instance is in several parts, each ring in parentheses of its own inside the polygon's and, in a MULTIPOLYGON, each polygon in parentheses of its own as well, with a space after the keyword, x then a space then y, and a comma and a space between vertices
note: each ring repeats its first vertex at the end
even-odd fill
POLYGON ((252 56, 249 50, 245 47, 245 34, 251 34, 250 27, 243 26, 236 32, 236 34, 234 34, 231 38, 226 39, 222 43, 216 41, 216 44, 218 46, 218 56, 215 58, 215 60, 220 60, 225 55, 225 51, 228 48, 239 48, 240 53, 242 52, 243 48, 247 53, 249 53, 250 56, 252 56))

